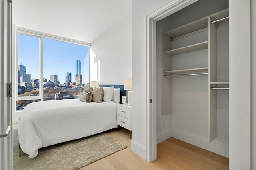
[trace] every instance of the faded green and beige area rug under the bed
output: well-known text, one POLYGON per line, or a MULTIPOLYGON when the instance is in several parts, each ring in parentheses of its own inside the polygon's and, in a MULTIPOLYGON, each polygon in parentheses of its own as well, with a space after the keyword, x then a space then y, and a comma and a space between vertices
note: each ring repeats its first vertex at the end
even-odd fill
POLYGON ((28 158, 24 152, 19 157, 18 126, 13 126, 14 170, 77 170, 126 148, 107 133, 100 133, 41 148, 36 158, 28 158))

